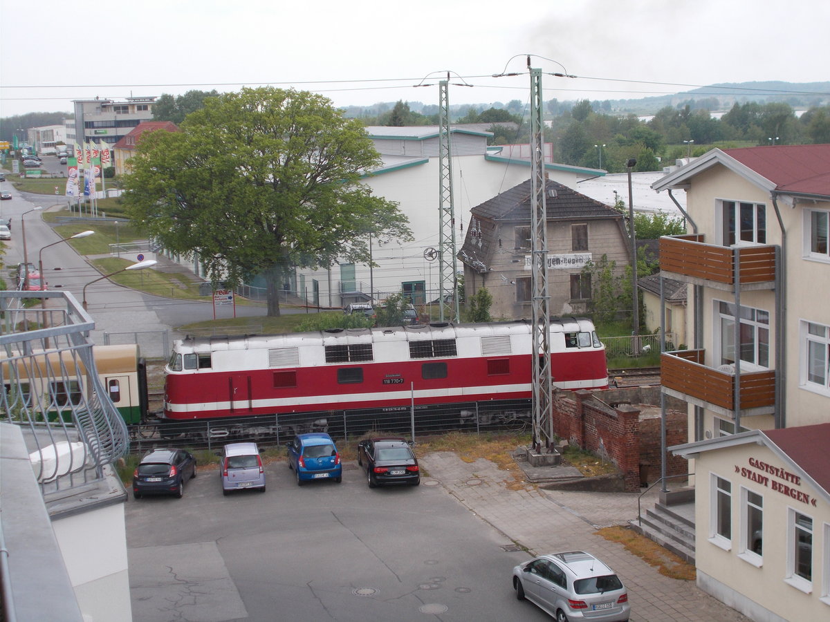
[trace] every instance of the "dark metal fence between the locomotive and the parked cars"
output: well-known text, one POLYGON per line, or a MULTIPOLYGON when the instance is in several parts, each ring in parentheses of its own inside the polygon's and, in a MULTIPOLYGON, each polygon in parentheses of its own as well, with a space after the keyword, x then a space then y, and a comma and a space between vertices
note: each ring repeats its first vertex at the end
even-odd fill
POLYGON ((148 421, 129 426, 130 450, 143 454, 155 447, 217 449, 229 442, 256 441, 283 445, 297 434, 328 432, 335 439, 370 433, 421 436, 452 431, 481 434, 522 432, 531 427, 530 400, 460 402, 443 406, 400 406, 366 411, 286 413, 233 420, 148 421))

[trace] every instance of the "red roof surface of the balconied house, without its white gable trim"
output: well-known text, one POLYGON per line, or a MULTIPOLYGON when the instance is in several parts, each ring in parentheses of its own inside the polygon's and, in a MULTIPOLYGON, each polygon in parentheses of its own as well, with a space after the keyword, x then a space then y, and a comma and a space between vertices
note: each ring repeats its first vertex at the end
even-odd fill
POLYGON ((781 192, 830 196, 830 144, 724 149, 781 192))

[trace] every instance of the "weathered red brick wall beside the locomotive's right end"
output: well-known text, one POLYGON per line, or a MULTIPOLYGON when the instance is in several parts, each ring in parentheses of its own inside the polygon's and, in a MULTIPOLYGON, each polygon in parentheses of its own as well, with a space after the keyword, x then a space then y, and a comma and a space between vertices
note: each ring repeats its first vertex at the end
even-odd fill
MULTIPOLYGON (((617 391, 623 391, 619 389, 617 391)), ((611 460, 623 473, 625 489, 640 489, 640 465, 648 465, 647 481, 660 477, 660 418, 642 418, 640 408, 627 403, 608 406, 607 391, 559 391, 554 395, 554 434, 571 445, 611 460)), ((686 413, 667 411, 666 446, 686 442, 686 413)), ((666 474, 687 473, 686 460, 672 456, 666 474)), ((645 473, 643 473, 645 475, 645 473)))

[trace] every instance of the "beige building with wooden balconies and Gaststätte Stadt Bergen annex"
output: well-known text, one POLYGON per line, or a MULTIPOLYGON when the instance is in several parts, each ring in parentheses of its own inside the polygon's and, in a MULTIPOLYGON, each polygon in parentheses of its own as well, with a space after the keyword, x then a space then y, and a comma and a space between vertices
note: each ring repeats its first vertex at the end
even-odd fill
POLYGON ((698 586, 753 620, 830 617, 827 481, 799 463, 799 444, 828 453, 830 144, 713 149, 652 187, 686 192, 688 234, 661 239, 660 275, 686 284, 690 349, 662 354, 662 391, 689 405, 689 444, 671 450, 695 475, 698 586), (750 485, 770 477, 750 459, 787 481, 750 485))

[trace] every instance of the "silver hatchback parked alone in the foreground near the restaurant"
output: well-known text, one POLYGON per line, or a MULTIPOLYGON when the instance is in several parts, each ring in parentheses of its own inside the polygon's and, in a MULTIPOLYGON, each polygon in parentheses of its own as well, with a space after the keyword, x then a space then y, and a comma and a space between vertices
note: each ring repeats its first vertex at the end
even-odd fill
POLYGON ((557 622, 626 622, 631 614, 623 581, 582 551, 535 557, 513 569, 516 598, 530 600, 557 622))

